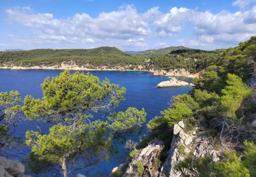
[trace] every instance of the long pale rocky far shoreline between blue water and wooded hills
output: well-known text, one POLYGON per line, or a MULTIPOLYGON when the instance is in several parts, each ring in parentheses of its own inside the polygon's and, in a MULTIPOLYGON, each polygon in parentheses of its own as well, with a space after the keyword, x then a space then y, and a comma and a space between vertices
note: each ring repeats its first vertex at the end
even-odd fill
POLYGON ((0 69, 10 69, 10 70, 72 70, 72 71, 145 71, 153 76, 165 76, 165 77, 184 77, 184 78, 198 78, 199 74, 190 74, 189 71, 186 71, 184 69, 173 69, 172 71, 165 71, 165 70, 154 70, 154 69, 143 69, 142 67, 139 67, 139 69, 127 69, 126 67, 119 67, 117 68, 106 68, 106 67, 100 67, 100 68, 88 68, 88 67, 78 67, 78 66, 63 66, 60 67, 57 65, 53 65, 51 67, 47 66, 33 66, 33 67, 21 67, 21 66, 0 66, 0 69))

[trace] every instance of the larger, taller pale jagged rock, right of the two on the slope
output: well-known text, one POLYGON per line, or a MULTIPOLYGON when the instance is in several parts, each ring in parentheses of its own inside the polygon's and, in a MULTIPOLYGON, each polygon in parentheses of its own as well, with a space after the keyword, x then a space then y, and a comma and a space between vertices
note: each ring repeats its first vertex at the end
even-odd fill
POLYGON ((208 138, 197 135, 196 130, 186 132, 184 127, 183 121, 174 125, 169 155, 161 167, 159 176, 181 176, 181 173, 175 170, 175 165, 184 160, 188 153, 193 153, 193 158, 212 155, 213 161, 218 161, 218 153, 208 138))

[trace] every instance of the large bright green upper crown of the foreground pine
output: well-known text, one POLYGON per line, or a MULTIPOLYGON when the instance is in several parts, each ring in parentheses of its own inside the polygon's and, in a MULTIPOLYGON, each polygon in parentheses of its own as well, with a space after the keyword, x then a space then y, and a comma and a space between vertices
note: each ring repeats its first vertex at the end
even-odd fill
POLYGON ((31 119, 45 118, 56 123, 70 122, 74 119, 85 120, 89 110, 106 110, 117 106, 124 100, 124 87, 111 84, 105 79, 100 82, 98 77, 79 72, 70 74, 63 71, 59 76, 46 78, 42 83, 42 99, 26 96, 23 112, 31 119))

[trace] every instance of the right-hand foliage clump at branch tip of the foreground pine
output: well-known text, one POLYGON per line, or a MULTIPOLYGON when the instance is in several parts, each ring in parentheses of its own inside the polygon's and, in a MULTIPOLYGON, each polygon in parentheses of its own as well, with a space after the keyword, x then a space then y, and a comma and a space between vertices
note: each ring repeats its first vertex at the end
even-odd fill
POLYGON ((126 112, 114 112, 108 117, 109 127, 115 133, 125 133, 132 130, 141 128, 142 124, 145 123, 147 113, 142 108, 128 108, 126 112))

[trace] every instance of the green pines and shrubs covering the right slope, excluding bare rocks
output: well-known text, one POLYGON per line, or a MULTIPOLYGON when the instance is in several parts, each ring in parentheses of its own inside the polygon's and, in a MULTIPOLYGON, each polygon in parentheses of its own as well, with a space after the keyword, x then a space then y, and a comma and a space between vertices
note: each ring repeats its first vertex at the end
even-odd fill
MULTIPOLYGON (((246 84, 255 76, 255 44, 256 37, 251 37, 236 48, 222 51, 220 57, 208 63, 201 78, 195 78, 193 91, 175 97, 171 108, 147 124, 152 135, 160 134, 159 129, 172 130, 180 120, 184 120, 186 129, 203 125, 204 133, 215 138, 214 146, 231 151, 225 152, 225 158, 217 163, 211 156, 195 159, 193 155, 186 155, 176 167, 184 176, 188 172, 193 176, 255 176, 255 137, 248 125, 256 104, 246 84)), ((192 51, 173 53, 182 52, 192 51)), ((183 152, 184 148, 179 147, 179 150, 183 152)))

